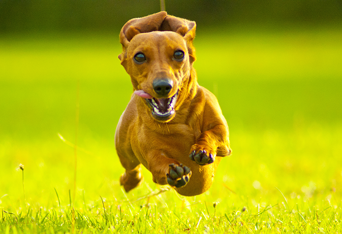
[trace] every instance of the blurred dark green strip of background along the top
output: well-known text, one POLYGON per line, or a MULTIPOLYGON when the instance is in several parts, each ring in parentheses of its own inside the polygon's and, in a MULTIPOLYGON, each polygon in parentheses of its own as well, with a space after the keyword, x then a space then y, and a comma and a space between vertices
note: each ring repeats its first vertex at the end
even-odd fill
MULTIPOLYGON (((275 27, 287 24, 340 24, 339 0, 167 0, 171 15, 197 22, 199 29, 233 25, 275 27)), ((0 32, 119 30, 128 19, 160 10, 159 0, 13 1, 0 2, 0 32)))

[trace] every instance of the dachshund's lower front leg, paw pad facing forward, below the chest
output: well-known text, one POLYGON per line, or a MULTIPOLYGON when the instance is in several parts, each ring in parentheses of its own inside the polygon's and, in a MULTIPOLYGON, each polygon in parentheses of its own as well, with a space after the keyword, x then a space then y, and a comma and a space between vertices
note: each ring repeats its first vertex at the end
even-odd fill
POLYGON ((147 164, 154 183, 181 188, 190 180, 191 170, 188 166, 166 157, 161 151, 149 152, 147 164))

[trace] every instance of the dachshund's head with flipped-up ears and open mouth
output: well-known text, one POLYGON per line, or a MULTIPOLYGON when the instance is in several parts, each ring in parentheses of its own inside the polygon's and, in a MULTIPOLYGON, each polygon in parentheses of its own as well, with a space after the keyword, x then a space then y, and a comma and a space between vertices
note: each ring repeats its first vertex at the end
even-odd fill
POLYGON ((157 121, 170 121, 194 85, 195 30, 195 22, 166 12, 132 19, 121 29, 119 59, 157 121))

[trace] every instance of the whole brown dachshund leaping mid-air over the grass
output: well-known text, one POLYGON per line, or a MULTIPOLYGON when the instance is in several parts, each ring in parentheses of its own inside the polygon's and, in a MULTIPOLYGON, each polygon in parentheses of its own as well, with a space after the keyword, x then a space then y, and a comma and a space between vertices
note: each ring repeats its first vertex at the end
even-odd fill
POLYGON ((201 194, 231 153, 219 103, 197 83, 195 30, 195 22, 166 12, 132 19, 121 29, 119 59, 134 88, 115 132, 126 191, 141 183, 143 164, 153 182, 181 195, 201 194))

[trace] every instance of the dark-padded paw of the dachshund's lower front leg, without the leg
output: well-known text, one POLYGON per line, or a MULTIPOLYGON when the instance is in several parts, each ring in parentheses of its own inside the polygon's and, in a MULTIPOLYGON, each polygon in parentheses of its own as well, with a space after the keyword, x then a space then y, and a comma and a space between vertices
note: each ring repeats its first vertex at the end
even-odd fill
POLYGON ((169 173, 166 174, 167 182, 169 185, 180 188, 189 182, 191 177, 191 170, 188 166, 182 164, 170 164, 169 173))

